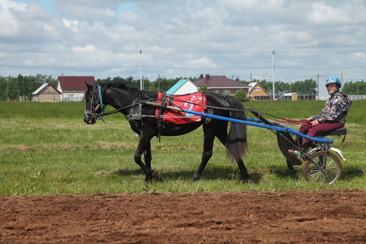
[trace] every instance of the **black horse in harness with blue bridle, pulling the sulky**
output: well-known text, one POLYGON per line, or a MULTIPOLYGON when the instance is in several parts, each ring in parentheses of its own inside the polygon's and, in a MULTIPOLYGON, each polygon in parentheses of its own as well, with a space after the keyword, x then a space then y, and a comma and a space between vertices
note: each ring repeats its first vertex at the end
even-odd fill
MULTIPOLYGON (((96 118, 101 119, 104 107, 111 105, 124 115, 142 114, 151 115, 152 117, 143 117, 138 120, 129 120, 131 129, 139 135, 139 143, 134 155, 135 163, 137 163, 146 174, 145 181, 152 178, 161 179, 160 172, 151 169, 151 145, 150 140, 159 133, 158 119, 154 117, 156 107, 149 105, 140 105, 141 101, 156 101, 158 94, 138 88, 129 87, 121 82, 105 83, 90 86, 86 84, 87 91, 84 99, 86 100, 84 122, 93 124, 96 118), (141 111, 140 111, 141 109, 141 111), (88 111, 88 112, 87 112, 88 111), (90 116, 91 114, 91 116, 90 116), (141 160, 142 154, 145 158, 145 164, 141 160)), ((202 92, 206 96, 207 113, 230 117, 234 119, 246 119, 242 103, 232 96, 219 95, 212 92, 202 92)), ((203 126, 203 153, 201 164, 192 181, 199 180, 203 169, 212 156, 213 141, 215 136, 227 149, 227 155, 231 160, 236 160, 238 164, 242 180, 248 179, 249 175, 244 166, 242 156, 247 151, 246 125, 241 123, 231 123, 229 133, 228 122, 214 119, 202 118, 199 122, 171 124, 162 123, 160 130, 161 136, 179 136, 203 126)))

